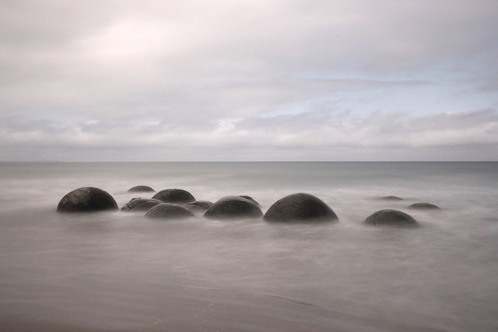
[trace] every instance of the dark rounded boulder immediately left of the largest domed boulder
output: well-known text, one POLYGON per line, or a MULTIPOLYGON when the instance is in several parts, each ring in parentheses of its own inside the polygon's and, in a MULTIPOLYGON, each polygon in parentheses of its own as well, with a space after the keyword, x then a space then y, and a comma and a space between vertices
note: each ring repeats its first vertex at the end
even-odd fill
POLYGON ((212 219, 261 218, 263 213, 253 202, 239 196, 227 196, 215 202, 204 213, 212 219))

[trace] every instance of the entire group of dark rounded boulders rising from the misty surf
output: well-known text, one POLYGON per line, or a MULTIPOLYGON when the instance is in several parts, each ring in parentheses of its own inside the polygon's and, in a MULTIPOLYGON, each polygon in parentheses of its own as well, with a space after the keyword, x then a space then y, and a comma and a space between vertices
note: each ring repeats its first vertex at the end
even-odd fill
MULTIPOLYGON (((148 186, 130 188, 128 193, 155 192, 148 186)), ((395 196, 382 197, 382 200, 402 201, 395 196)), ((440 210, 429 203, 416 203, 407 207, 418 210, 440 210)), ((83 187, 66 194, 58 212, 98 212, 118 210, 118 204, 106 191, 95 187, 83 187)), ((183 189, 163 189, 152 198, 133 198, 121 211, 145 212, 145 217, 155 219, 181 219, 202 215, 209 219, 263 219, 280 223, 336 222, 337 215, 318 197, 307 193, 295 193, 273 203, 263 215, 259 203, 246 195, 226 196, 216 202, 196 201, 194 196, 183 189)), ((410 215, 398 210, 379 210, 364 221, 373 226, 416 227, 419 223, 410 215)))

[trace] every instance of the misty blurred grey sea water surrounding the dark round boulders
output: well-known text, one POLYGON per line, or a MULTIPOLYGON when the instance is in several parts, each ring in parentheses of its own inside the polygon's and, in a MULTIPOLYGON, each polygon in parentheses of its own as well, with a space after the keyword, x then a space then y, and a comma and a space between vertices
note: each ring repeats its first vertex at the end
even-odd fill
POLYGON ((497 162, 0 163, 0 319, 99 331, 497 331, 497 162), (264 213, 296 192, 339 217, 272 224, 59 214, 136 185, 264 213), (394 195, 402 201, 382 201, 394 195), (413 203, 441 211, 412 211, 413 203), (368 227, 396 209, 417 229, 368 227), (147 330, 148 329, 148 330, 147 330), (432 329, 432 330, 431 330, 432 329))

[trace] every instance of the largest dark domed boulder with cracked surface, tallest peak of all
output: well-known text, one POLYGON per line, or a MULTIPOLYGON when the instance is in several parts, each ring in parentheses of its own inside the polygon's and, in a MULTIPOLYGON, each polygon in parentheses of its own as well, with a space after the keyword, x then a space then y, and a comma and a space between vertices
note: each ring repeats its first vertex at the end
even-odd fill
POLYGON ((276 201, 263 217, 266 221, 319 222, 337 221, 337 215, 318 197, 297 193, 276 201))

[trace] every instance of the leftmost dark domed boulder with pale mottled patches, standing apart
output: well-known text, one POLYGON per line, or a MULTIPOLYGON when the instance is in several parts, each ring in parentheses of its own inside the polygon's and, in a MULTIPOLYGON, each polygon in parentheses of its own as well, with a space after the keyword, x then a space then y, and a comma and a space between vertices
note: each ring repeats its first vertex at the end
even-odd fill
POLYGON ((82 187, 67 193, 57 206, 59 212, 106 210, 118 210, 118 204, 107 191, 94 187, 82 187))

